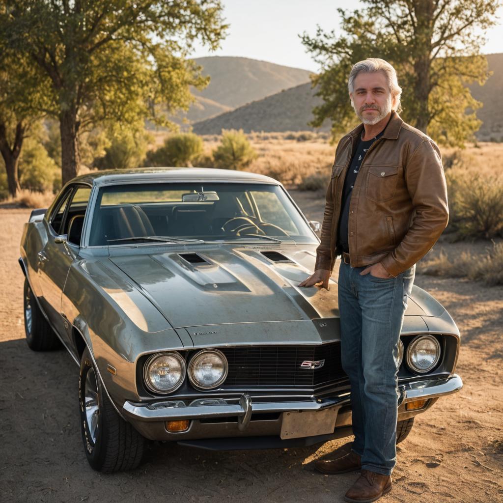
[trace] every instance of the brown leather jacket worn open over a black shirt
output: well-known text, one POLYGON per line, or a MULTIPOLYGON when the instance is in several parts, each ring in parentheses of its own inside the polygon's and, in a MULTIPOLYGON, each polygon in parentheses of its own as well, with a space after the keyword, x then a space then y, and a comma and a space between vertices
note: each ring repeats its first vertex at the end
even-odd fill
MULTIPOLYGON (((346 172, 363 124, 336 149, 315 269, 332 270, 346 172)), ((360 166, 349 209, 351 267, 381 262, 392 276, 426 255, 449 221, 447 185, 434 141, 396 112, 360 166)))

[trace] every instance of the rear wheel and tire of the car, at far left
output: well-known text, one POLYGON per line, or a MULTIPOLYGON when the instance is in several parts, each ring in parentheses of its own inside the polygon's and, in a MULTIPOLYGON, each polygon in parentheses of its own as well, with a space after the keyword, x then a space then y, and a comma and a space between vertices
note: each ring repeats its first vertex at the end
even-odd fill
POLYGON ((59 348, 61 342, 45 319, 26 277, 23 289, 23 308, 28 347, 33 351, 50 351, 59 348))

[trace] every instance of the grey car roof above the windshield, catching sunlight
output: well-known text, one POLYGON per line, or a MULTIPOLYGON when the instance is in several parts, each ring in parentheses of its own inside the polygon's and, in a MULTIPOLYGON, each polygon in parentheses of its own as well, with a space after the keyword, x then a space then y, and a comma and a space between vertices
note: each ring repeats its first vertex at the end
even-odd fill
POLYGON ((250 182, 279 184, 277 180, 258 173, 219 170, 209 167, 136 167, 129 170, 95 171, 80 175, 74 182, 109 185, 130 182, 250 182))

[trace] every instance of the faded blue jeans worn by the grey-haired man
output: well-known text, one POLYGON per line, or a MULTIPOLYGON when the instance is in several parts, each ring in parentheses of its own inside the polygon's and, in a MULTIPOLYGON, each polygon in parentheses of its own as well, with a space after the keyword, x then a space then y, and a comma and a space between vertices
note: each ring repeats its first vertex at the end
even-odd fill
MULTIPOLYGON (((366 266, 367 267, 367 266, 366 266)), ((390 475, 396 463, 398 340, 415 265, 396 278, 361 276, 341 261, 341 356, 351 383, 352 450, 362 469, 390 475)))

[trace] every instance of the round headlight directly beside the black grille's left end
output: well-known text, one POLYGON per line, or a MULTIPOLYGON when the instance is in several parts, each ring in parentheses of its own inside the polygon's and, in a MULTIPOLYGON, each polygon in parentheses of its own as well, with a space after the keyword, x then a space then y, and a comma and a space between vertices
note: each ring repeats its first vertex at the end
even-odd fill
POLYGON ((216 349, 200 351, 189 363, 189 380, 197 388, 216 388, 227 377, 227 358, 216 349))

